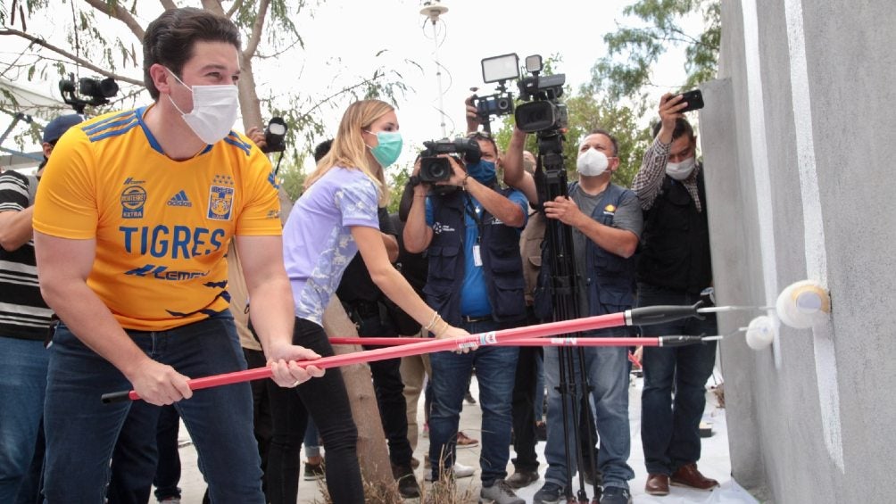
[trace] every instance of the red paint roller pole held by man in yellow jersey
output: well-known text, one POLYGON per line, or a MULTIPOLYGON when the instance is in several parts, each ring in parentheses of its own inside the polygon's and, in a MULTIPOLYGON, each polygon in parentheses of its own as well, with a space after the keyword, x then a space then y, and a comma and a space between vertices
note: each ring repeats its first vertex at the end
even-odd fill
MULTIPOLYGON (((499 341, 553 336, 557 334, 573 334, 593 329, 615 328, 624 326, 625 323, 625 312, 609 313, 607 315, 598 315, 595 317, 561 320, 538 324, 536 326, 473 334, 466 337, 452 337, 447 339, 426 338, 426 341, 421 341, 419 343, 377 348, 375 350, 366 350, 364 352, 355 352, 347 355, 333 355, 331 357, 322 357, 313 361, 301 361, 297 364, 300 366, 314 365, 320 369, 329 369, 349 364, 370 363, 385 359, 394 359, 396 357, 404 357, 408 355, 428 354, 443 350, 463 350, 472 346, 495 345, 495 343, 499 341)), ((189 385, 191 390, 210 389, 211 387, 230 385, 242 381, 261 380, 263 378, 271 378, 271 368, 265 366, 248 369, 246 371, 228 372, 203 378, 195 378, 193 380, 188 380, 187 385, 189 385)), ((102 400, 103 402, 108 403, 124 400, 126 398, 139 399, 140 396, 137 395, 136 391, 130 390, 127 392, 121 391, 105 394, 103 395, 102 400)))

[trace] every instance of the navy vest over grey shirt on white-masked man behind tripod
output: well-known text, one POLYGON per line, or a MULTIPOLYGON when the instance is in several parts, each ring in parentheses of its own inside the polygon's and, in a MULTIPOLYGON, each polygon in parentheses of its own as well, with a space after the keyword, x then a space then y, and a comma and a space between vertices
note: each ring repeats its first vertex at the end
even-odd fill
MULTIPOLYGON (((573 194, 579 183, 569 184, 567 194, 573 194)), ((591 212, 591 218, 604 226, 613 226, 613 214, 605 213, 607 205, 617 209, 623 197, 631 190, 616 184, 608 184, 599 203, 591 212)), ((632 197, 633 194, 630 196, 632 197)), ((634 304, 634 258, 625 259, 600 248, 590 239, 585 240, 585 278, 576 278, 576 282, 584 282, 588 293, 588 313, 581 316, 603 315, 623 312, 634 304)), ((554 300, 549 285, 551 261, 548 257, 547 240, 542 243, 541 270, 538 275, 538 287, 535 292, 535 314, 539 319, 552 320, 554 300)), ((573 258, 582 261, 582 258, 573 258)), ((600 332, 600 331, 599 331, 600 332)))

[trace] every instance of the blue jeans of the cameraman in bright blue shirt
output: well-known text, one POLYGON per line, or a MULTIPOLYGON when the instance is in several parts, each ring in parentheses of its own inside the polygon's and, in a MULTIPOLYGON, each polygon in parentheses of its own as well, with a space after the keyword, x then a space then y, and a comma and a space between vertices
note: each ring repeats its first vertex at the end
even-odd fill
MULTIPOLYGON (((461 324, 470 334, 498 328, 493 321, 461 324)), ((519 348, 482 346, 475 352, 457 355, 437 352, 429 356, 433 366, 433 406, 429 413, 429 459, 433 477, 439 478, 440 462, 445 469, 454 466, 457 431, 461 421, 463 396, 470 372, 476 368, 479 406, 482 408, 482 451, 479 466, 483 485, 507 475, 510 458, 511 398, 519 348)))

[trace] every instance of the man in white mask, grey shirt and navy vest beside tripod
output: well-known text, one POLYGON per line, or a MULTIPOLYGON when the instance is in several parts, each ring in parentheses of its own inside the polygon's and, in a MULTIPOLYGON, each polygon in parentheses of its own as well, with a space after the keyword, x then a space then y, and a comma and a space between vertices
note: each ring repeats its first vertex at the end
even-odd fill
MULTIPOLYGON (((521 143, 524 134, 514 132, 512 142, 521 143)), ((633 253, 642 231, 642 215, 635 194, 610 182, 619 167, 616 139, 604 130, 594 130, 582 141, 576 168, 579 181, 569 184, 568 198, 557 197, 545 202, 547 218, 560 220, 573 227, 573 258, 578 278, 580 312, 600 315, 621 312, 633 305, 633 253)), ((535 192, 531 175, 513 169, 517 163, 504 167, 504 180, 535 192)), ((542 258, 542 281, 549 264, 542 258)), ((536 303, 544 303, 550 293, 539 289, 536 303)), ((595 331, 592 336, 609 336, 608 329, 595 331)), ((600 438, 599 470, 603 474, 603 495, 600 502, 625 503, 631 499, 628 480, 634 477, 628 466, 631 434, 628 429, 628 361, 625 347, 590 347, 584 349, 585 366, 592 387, 596 409, 596 426, 600 438)), ((578 354, 573 354, 578 360, 578 354)), ((564 429, 572 431, 573 421, 567 418, 564 427, 562 400, 557 390, 559 383, 558 350, 545 349, 545 386, 547 388, 547 472, 545 484, 536 492, 536 503, 555 503, 563 499, 567 471, 565 453, 574 451, 572 444, 564 447, 564 429)), ((573 365, 578 373, 579 366, 573 365)), ((577 377, 578 378, 578 377, 577 377)), ((581 380, 581 378, 579 378, 581 380)), ((573 437, 570 437, 572 441, 573 437)))

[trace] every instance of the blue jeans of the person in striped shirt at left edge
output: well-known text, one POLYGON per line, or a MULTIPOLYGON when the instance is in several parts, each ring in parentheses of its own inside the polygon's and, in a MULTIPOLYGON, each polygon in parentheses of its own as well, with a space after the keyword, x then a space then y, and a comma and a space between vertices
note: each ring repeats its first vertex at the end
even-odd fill
POLYGON ((42 341, 0 336, 0 502, 14 502, 28 479, 44 410, 48 358, 42 341))

